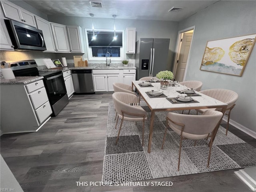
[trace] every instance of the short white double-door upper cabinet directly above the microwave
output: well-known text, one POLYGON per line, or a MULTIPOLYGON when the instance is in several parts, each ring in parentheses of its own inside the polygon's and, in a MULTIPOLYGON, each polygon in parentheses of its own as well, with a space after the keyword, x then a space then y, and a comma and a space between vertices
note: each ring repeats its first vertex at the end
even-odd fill
POLYGON ((35 15, 9 2, 1 1, 4 16, 6 18, 36 27, 35 15))

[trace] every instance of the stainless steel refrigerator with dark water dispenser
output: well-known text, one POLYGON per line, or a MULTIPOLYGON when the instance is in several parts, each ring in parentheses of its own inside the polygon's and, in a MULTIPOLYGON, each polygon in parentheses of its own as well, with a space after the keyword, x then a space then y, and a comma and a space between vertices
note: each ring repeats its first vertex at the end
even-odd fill
POLYGON ((136 80, 168 69, 170 39, 140 38, 136 42, 136 80))

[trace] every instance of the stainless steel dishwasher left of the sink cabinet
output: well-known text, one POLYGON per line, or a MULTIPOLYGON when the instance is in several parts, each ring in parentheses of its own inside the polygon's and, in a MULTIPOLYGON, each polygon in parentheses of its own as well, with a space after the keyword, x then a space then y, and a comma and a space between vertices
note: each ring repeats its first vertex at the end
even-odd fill
POLYGON ((94 93, 91 69, 72 69, 71 72, 75 93, 94 93))

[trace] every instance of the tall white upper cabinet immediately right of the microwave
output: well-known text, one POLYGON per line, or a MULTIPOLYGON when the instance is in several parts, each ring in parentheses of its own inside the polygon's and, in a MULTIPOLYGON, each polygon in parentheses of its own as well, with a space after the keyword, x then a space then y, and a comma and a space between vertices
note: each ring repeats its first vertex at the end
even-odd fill
POLYGON ((42 30, 44 35, 44 42, 46 44, 46 50, 44 52, 56 52, 50 22, 36 16, 36 25, 38 29, 42 30))

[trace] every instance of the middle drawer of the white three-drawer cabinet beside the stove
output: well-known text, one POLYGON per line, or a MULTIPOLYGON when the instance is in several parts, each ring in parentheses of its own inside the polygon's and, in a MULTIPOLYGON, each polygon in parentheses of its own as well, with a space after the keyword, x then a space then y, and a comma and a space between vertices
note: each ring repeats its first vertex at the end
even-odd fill
POLYGON ((48 96, 46 94, 45 88, 42 88, 40 90, 37 90, 29 95, 30 100, 32 102, 32 105, 34 109, 37 109, 42 104, 48 101, 48 96))

